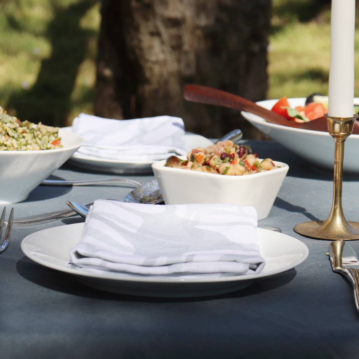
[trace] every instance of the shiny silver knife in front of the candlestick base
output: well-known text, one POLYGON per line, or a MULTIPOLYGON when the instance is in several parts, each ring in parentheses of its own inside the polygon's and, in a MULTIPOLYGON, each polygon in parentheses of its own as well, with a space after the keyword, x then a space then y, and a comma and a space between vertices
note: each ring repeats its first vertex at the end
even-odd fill
POLYGON ((333 270, 345 276, 354 288, 354 301, 359 312, 359 260, 353 247, 346 241, 334 241, 329 246, 333 270))

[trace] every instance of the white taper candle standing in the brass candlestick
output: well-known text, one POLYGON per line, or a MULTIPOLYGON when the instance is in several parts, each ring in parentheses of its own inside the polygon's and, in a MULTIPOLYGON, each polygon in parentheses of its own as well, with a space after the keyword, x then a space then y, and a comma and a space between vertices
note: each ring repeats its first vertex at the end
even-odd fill
POLYGON ((332 0, 328 115, 353 117, 355 0, 332 0))

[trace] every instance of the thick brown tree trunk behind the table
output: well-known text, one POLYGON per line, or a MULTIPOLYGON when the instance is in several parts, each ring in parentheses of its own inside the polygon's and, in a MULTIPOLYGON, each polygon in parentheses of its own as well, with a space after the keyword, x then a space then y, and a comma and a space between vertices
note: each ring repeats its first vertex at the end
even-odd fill
POLYGON ((237 111, 185 101, 183 87, 265 99, 270 0, 104 0, 101 14, 96 115, 171 115, 207 137, 258 137, 237 111))

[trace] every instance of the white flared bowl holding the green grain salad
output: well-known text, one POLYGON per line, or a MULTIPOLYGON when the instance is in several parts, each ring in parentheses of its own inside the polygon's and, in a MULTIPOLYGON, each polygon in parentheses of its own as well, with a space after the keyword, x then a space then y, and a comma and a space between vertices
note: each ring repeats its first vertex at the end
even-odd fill
POLYGON ((60 129, 63 148, 41 151, 0 151, 0 204, 27 199, 30 192, 59 168, 84 143, 73 132, 60 129))

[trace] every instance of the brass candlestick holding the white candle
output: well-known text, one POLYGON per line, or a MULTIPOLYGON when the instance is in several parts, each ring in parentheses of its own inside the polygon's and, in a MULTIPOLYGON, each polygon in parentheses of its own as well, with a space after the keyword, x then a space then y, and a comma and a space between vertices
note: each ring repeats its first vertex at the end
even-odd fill
POLYGON ((359 239, 359 223, 348 222, 345 219, 341 204, 343 185, 343 159, 344 142, 353 132, 356 118, 354 117, 332 117, 325 115, 328 121, 329 134, 334 138, 334 193, 333 205, 330 215, 326 221, 312 221, 297 224, 295 232, 303 236, 330 239, 331 241, 341 239, 349 241, 359 239))

